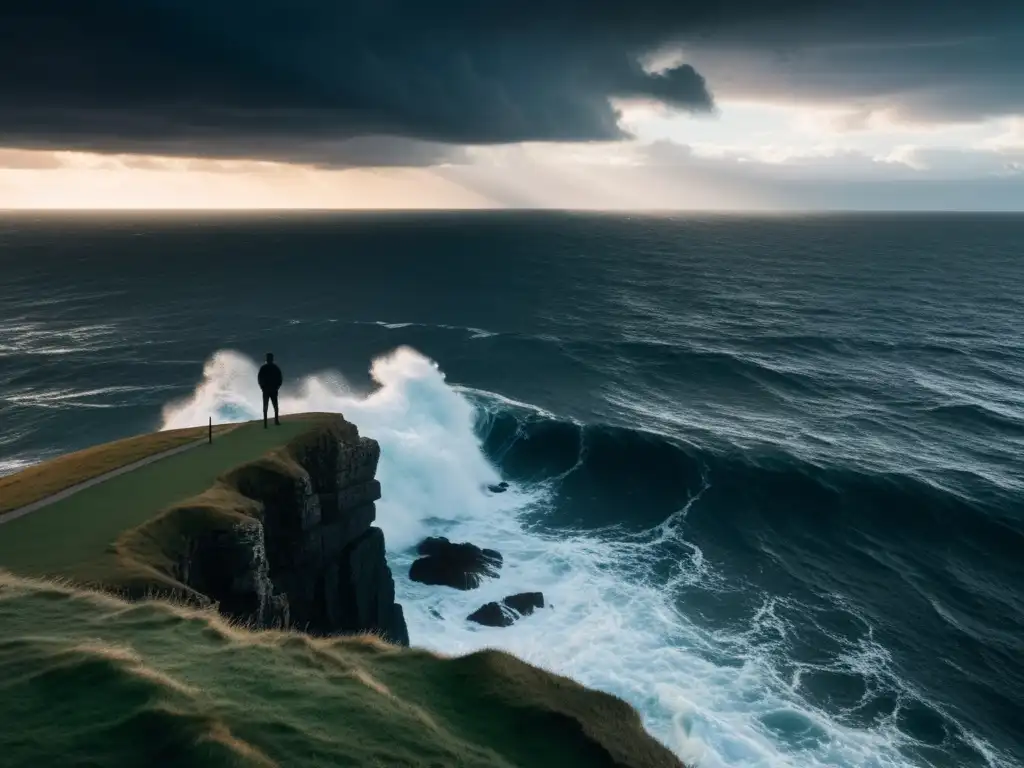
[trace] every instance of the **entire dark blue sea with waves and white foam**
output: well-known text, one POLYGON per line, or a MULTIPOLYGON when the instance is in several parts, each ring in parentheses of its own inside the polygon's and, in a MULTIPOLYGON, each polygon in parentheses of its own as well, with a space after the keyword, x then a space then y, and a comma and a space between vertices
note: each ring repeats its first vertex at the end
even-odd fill
POLYGON ((8 216, 0 269, 0 471, 251 418, 272 350, 381 441, 414 644, 702 768, 1024 763, 1024 217, 8 216), (411 584, 430 532, 502 579, 411 584))

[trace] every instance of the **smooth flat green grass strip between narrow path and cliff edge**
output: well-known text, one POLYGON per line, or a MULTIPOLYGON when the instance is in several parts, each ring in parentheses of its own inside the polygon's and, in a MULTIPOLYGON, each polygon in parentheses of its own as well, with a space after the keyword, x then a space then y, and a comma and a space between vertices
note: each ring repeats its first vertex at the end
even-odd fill
POLYGON ((261 422, 244 424, 211 445, 161 459, 4 523, 0 567, 26 575, 99 581, 124 531, 202 494, 232 467, 308 432, 311 423, 286 420, 270 429, 261 422))

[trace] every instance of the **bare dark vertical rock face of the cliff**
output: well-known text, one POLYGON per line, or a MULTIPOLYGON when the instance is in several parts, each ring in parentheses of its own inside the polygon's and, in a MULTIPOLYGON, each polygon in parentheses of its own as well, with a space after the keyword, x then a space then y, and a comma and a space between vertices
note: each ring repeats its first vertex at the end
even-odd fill
POLYGON ((258 513, 193 540, 178 578, 258 627, 374 632, 408 645, 384 535, 373 525, 379 459, 377 441, 339 419, 239 467, 225 482, 258 513))

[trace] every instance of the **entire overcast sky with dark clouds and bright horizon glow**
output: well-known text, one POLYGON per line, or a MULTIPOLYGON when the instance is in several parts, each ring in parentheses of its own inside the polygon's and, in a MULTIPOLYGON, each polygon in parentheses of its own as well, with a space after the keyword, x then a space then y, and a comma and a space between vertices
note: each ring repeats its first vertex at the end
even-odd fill
POLYGON ((2 207, 1024 210, 1024 2, 15 0, 2 207))

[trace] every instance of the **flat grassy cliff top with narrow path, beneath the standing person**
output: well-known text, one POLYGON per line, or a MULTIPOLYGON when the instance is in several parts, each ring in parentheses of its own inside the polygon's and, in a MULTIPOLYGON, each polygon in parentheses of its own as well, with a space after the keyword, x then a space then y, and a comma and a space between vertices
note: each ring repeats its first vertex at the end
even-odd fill
MULTIPOLYGON (((264 429, 262 422, 227 425, 214 435, 212 444, 159 459, 0 524, 0 567, 23 575, 59 577, 112 587, 134 580, 153 587, 161 575, 140 574, 138 570, 146 570, 146 564, 124 557, 119 543, 126 536, 171 508, 189 506, 190 500, 203 495, 208 502, 218 490, 223 497, 226 490, 220 478, 229 470, 312 439, 325 429, 341 436, 354 434, 354 427, 340 416, 328 414, 293 416, 269 429, 264 429)), ((70 487, 90 473, 95 477, 145 456, 195 442, 205 433, 205 427, 198 433, 158 432, 70 454, 3 478, 0 494, 5 504, 9 504, 7 494, 11 490, 22 502, 33 496, 35 501, 47 496, 45 490, 70 487)), ((230 502, 239 511, 252 511, 252 503, 245 500, 221 502, 222 507, 230 502)))

